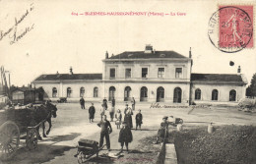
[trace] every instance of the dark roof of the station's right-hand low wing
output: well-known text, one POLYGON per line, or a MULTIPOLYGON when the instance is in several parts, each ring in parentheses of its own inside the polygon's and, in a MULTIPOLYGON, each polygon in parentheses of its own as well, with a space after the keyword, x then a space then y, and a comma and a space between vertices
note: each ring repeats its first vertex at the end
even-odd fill
POLYGON ((236 74, 191 74, 192 82, 241 82, 241 75, 236 74))

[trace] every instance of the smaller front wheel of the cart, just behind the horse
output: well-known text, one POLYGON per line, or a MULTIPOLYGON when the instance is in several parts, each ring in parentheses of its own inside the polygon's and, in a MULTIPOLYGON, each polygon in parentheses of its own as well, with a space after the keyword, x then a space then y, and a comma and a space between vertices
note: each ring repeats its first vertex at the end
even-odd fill
POLYGON ((32 150, 37 147, 38 133, 35 129, 30 129, 27 133, 26 144, 32 150))

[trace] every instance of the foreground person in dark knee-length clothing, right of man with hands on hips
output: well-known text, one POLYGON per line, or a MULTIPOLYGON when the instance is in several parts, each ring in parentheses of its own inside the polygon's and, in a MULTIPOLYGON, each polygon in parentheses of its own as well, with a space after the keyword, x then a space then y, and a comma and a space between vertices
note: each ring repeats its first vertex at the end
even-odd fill
POLYGON ((126 122, 123 122, 122 125, 123 127, 120 130, 118 142, 121 143, 121 151, 123 151, 123 145, 125 143, 126 150, 129 152, 128 144, 129 142, 132 142, 133 135, 132 135, 131 129, 127 126, 126 122))

